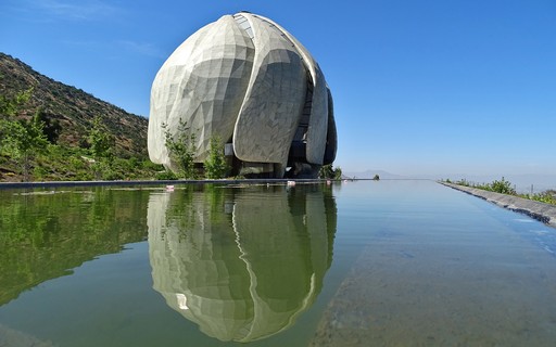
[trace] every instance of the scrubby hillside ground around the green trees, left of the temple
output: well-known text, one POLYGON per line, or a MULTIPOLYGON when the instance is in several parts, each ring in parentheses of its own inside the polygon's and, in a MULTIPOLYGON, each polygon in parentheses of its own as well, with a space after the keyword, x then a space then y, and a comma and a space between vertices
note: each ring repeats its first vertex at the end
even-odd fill
MULTIPOLYGON (((153 170, 160 169, 148 162, 147 118, 58 82, 23 62, 0 53, 0 95, 12 98, 29 88, 33 88, 33 95, 18 116, 30 117, 40 110, 49 120, 59 121, 62 127, 56 145, 50 146, 33 163, 31 179, 92 179, 91 164, 84 157, 88 156, 86 138, 96 116, 101 118, 103 128, 115 138, 115 159, 110 168, 112 175, 103 178, 149 178, 153 170)), ((21 179, 17 164, 5 155, 0 156, 0 181, 21 179)))

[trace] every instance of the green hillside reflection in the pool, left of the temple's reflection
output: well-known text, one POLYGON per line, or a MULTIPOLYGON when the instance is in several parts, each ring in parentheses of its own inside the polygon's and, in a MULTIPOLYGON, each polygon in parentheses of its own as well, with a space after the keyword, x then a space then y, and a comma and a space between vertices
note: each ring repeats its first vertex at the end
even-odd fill
POLYGON ((146 237, 148 192, 0 192, 0 305, 146 237))

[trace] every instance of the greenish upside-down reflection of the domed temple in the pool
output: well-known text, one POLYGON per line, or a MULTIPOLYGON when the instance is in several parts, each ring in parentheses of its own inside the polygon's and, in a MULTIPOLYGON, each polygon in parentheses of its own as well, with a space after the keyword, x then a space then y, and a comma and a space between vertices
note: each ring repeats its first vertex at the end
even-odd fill
POLYGON ((291 326, 320 292, 336 216, 332 193, 321 187, 152 193, 153 287, 208 336, 268 337, 291 326))

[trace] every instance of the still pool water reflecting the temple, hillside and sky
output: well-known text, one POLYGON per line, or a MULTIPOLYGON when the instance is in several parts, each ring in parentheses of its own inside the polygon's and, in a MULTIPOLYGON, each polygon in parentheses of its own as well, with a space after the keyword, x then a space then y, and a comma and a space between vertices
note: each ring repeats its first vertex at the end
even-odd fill
POLYGON ((554 346, 556 230, 430 181, 0 191, 0 346, 554 346))

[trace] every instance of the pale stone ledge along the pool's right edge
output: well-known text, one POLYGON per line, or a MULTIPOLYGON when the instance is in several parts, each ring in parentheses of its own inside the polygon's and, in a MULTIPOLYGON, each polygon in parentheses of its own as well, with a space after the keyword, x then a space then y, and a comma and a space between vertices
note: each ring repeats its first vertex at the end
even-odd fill
POLYGON ((531 218, 556 228, 556 206, 554 205, 535 202, 519 196, 489 192, 477 188, 464 187, 446 182, 441 182, 441 184, 483 198, 513 211, 528 215, 531 218))

